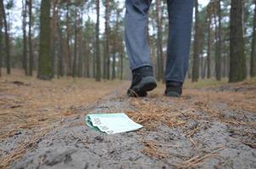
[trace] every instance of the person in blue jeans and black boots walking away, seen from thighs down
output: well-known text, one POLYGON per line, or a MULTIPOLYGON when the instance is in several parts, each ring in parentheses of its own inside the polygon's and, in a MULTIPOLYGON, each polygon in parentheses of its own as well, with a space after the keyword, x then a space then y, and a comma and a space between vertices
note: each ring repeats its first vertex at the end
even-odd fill
MULTIPOLYGON (((158 0, 157 0, 158 1, 158 0)), ((125 46, 132 72, 129 96, 147 96, 157 87, 147 41, 147 13, 152 0, 125 0, 125 46)), ((193 0, 167 0, 169 41, 164 95, 179 97, 188 68, 193 0)))

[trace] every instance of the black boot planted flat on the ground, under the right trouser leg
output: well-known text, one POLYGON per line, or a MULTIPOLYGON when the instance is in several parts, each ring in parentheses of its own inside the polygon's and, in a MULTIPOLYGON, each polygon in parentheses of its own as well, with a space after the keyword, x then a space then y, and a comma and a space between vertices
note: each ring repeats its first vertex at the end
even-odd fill
POLYGON ((180 97, 182 94, 182 85, 181 82, 167 81, 164 95, 169 97, 180 97))

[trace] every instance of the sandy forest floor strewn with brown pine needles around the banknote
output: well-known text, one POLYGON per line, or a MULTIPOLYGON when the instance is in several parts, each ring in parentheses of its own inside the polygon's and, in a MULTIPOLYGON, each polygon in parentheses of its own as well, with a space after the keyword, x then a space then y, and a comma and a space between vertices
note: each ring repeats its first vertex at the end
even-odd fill
MULTIPOLYGON (((14 80, 15 79, 15 80, 14 80)), ((256 80, 187 83, 181 98, 128 98, 129 82, 0 81, 0 168, 256 168, 256 80), (87 113, 125 112, 143 128, 106 135, 87 113)))

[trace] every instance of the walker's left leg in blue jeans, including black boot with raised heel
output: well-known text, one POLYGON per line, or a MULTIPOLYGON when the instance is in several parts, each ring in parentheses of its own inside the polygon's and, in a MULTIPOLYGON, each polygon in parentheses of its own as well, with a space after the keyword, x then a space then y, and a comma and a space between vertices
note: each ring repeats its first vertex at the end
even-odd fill
POLYGON ((157 84, 149 57, 147 11, 151 0, 126 0, 125 45, 132 70, 129 96, 146 96, 157 84))

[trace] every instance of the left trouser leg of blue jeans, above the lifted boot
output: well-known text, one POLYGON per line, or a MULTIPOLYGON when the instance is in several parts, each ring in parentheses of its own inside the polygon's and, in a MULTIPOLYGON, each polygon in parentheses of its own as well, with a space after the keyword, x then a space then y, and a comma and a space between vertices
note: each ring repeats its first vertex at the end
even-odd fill
POLYGON ((151 0, 125 0, 125 45, 132 70, 152 66, 147 41, 147 11, 151 0))

